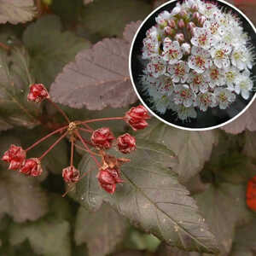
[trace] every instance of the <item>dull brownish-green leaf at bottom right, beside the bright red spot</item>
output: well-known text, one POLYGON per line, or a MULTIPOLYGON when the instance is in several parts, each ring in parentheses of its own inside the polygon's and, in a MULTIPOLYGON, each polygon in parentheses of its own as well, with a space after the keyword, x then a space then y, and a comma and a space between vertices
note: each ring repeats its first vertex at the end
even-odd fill
POLYGON ((245 190, 244 184, 221 183, 195 196, 199 209, 218 240, 220 255, 230 253, 236 226, 247 223, 253 216, 246 206, 245 190))

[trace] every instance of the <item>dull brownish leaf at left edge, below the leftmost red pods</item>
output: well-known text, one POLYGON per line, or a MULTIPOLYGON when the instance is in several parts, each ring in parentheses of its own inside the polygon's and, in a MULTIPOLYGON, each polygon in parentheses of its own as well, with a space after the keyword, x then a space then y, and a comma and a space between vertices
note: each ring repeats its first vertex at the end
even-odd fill
POLYGON ((0 217, 5 213, 15 222, 36 220, 48 211, 45 191, 36 179, 19 172, 1 168, 0 172, 0 217))

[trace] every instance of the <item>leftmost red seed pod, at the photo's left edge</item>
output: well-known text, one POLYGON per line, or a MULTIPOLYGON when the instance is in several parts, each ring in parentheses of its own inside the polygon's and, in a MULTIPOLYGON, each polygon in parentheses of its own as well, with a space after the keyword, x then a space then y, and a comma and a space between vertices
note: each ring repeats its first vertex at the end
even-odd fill
POLYGON ((1 160, 9 163, 9 170, 18 170, 23 166, 26 160, 26 151, 12 144, 9 149, 4 152, 1 160))

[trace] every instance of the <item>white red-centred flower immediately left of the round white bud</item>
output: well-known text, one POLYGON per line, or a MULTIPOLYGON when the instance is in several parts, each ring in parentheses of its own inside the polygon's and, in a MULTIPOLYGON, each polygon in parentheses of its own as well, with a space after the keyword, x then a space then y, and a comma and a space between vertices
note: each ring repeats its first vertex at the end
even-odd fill
POLYGON ((169 64, 175 64, 183 57, 182 50, 177 41, 173 41, 170 38, 166 38, 164 41, 163 59, 169 64))

